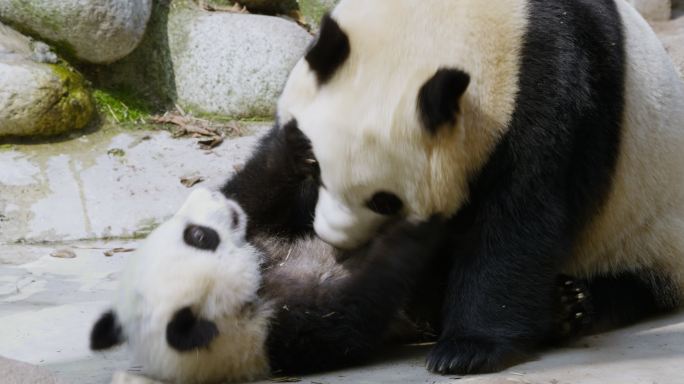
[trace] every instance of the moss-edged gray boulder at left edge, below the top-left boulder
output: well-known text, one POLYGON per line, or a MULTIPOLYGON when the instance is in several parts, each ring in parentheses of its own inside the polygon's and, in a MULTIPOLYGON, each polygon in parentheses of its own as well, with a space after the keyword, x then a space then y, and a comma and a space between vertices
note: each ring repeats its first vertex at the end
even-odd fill
POLYGON ((0 138, 64 133, 93 116, 83 77, 46 48, 0 24, 0 138))

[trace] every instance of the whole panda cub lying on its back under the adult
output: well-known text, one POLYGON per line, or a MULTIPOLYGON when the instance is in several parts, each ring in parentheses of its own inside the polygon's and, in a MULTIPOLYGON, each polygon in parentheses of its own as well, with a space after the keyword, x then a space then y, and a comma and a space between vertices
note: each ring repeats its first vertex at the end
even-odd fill
POLYGON ((310 156, 292 156, 310 153, 298 134, 274 128, 222 192, 193 191, 150 234, 131 256, 113 309, 93 327, 91 349, 127 342, 146 374, 204 383, 344 366, 367 360, 390 336, 420 336, 415 324, 436 314, 421 309, 429 300, 407 307, 417 284, 436 286, 435 273, 421 282, 438 254, 436 222, 393 223, 353 252, 318 240, 310 214, 297 225, 306 208, 286 201, 302 197, 288 188, 308 201, 306 185, 316 183, 310 156), (288 179, 269 175, 269 165, 288 179), (252 168, 263 173, 253 178, 252 168), (269 188, 253 184, 269 180, 269 188), (246 209, 263 208, 272 220, 226 197, 238 191, 253 192, 258 201, 245 199, 246 209))

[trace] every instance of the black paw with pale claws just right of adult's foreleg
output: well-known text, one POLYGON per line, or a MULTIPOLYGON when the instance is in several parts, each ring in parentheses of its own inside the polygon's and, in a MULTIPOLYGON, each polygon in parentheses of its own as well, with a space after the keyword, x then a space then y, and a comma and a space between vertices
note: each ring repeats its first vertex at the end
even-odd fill
POLYGON ((571 276, 559 275, 556 286, 559 302, 552 339, 563 341, 586 333, 593 313, 587 285, 571 276))

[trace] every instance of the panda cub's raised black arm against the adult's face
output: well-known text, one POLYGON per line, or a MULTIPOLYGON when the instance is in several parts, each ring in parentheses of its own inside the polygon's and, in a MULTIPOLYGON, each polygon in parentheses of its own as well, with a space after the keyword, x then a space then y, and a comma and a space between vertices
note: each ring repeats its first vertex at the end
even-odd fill
POLYGON ((292 122, 271 128, 221 192, 245 210, 248 238, 295 238, 313 231, 319 185, 311 143, 292 122))

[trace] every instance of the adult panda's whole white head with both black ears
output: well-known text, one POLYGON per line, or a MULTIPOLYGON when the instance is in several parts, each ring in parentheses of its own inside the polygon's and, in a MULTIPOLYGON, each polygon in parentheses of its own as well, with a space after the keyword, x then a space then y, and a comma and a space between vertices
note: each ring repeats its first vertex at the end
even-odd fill
POLYGON ((396 216, 451 213, 465 196, 472 161, 456 127, 470 77, 449 56, 458 46, 424 36, 454 23, 420 12, 412 1, 341 2, 279 100, 279 123, 296 122, 320 165, 315 230, 339 248, 396 216))

